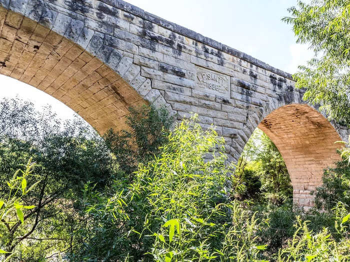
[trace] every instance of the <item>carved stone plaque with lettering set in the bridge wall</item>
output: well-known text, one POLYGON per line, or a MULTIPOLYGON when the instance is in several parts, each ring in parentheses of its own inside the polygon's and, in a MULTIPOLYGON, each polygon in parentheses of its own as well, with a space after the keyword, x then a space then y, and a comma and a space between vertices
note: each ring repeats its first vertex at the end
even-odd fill
POLYGON ((230 96, 229 76, 199 66, 196 66, 196 72, 196 89, 230 96))

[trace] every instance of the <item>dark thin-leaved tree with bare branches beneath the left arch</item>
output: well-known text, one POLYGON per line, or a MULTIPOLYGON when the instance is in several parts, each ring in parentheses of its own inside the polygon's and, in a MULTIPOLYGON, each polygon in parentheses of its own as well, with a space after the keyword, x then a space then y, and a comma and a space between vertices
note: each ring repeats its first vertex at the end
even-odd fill
POLYGON ((3 100, 0 112, 0 199, 11 194, 7 181, 29 158, 35 162, 31 168, 35 176, 27 176, 25 183, 39 181, 21 196, 24 206, 35 207, 21 219, 12 216, 0 247, 18 261, 57 257, 81 241, 72 235, 88 222, 76 201, 84 184, 101 190, 124 174, 103 139, 79 118, 62 123, 49 108, 39 112, 16 99, 3 100))

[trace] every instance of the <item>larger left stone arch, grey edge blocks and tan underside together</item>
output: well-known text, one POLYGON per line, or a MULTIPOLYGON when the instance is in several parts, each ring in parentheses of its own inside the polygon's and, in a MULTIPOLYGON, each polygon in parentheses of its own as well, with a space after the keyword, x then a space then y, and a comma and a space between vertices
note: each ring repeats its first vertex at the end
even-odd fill
POLYGON ((130 106, 166 105, 140 66, 104 44, 102 33, 43 6, 40 11, 35 2, 41 1, 11 2, 9 9, 0 7, 1 74, 50 94, 102 134, 126 128, 130 106), (19 7, 24 15, 11 10, 19 7))

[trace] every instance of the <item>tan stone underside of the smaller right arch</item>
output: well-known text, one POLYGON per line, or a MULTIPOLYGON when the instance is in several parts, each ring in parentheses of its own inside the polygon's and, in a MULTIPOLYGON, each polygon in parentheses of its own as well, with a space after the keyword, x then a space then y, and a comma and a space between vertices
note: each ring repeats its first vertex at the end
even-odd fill
POLYGON ((293 202, 313 206, 310 191, 322 185, 323 170, 339 159, 340 136, 318 111, 305 104, 282 106, 258 125, 276 145, 288 169, 293 202))

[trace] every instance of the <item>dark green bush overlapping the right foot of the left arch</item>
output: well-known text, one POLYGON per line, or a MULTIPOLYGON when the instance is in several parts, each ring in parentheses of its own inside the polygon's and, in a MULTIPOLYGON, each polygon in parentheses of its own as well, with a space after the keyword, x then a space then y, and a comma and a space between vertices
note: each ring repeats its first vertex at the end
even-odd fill
POLYGON ((103 135, 120 168, 127 174, 135 171, 138 163, 147 163, 159 153, 173 123, 165 107, 155 109, 151 105, 129 108, 129 111, 125 121, 129 130, 115 132, 110 129, 103 135))

